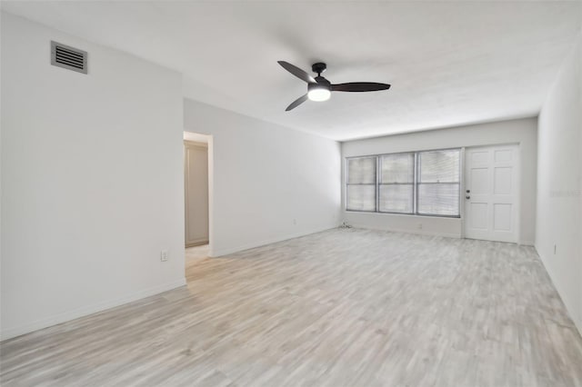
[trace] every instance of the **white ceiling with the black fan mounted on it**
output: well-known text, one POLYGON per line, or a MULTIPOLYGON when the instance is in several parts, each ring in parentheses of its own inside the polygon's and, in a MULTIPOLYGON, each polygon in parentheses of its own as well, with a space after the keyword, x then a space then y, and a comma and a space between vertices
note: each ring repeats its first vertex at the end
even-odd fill
POLYGON ((185 75, 185 95, 336 140, 531 116, 582 24, 580 2, 3 2, 7 12, 185 75), (327 63, 334 93, 277 65, 327 63))

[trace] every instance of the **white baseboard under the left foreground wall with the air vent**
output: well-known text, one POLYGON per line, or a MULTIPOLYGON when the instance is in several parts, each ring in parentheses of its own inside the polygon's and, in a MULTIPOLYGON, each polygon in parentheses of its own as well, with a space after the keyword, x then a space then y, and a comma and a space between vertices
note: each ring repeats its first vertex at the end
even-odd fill
POLYGON ((164 293, 184 285, 186 285, 186 278, 181 278, 171 283, 164 283, 162 285, 144 289, 139 292, 127 294, 124 297, 116 298, 115 300, 109 300, 103 303, 94 303, 93 305, 84 306, 82 308, 77 308, 65 313, 58 313, 45 319, 37 320, 34 323, 27 323, 21 326, 6 328, 0 332, 0 341, 11 339, 25 333, 35 332, 59 323, 66 323, 89 314, 103 312, 107 309, 114 308, 115 306, 131 303, 133 301, 137 301, 158 293, 164 293))

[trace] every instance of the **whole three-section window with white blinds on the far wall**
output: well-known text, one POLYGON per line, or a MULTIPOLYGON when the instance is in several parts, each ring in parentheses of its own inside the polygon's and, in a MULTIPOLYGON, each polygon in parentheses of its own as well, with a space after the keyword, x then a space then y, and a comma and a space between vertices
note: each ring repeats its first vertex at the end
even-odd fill
POLYGON ((459 149, 347 159, 348 211, 458 217, 459 194, 459 149))

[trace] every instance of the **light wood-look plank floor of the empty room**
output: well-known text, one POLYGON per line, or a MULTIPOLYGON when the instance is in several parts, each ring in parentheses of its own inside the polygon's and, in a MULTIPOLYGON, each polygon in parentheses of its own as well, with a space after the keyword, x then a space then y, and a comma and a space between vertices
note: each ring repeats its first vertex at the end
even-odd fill
POLYGON ((582 338, 532 247, 338 229, 186 275, 3 342, 2 385, 582 385, 582 338))

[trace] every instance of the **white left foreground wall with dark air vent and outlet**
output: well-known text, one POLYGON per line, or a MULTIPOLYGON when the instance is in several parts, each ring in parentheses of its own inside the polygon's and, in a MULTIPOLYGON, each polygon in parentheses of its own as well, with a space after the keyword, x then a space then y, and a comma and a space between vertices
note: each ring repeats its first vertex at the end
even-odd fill
POLYGON ((2 14, 3 339, 185 283, 181 87, 2 14), (89 74, 50 65, 50 40, 89 74))

